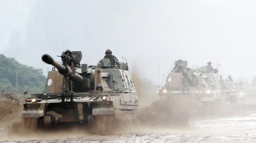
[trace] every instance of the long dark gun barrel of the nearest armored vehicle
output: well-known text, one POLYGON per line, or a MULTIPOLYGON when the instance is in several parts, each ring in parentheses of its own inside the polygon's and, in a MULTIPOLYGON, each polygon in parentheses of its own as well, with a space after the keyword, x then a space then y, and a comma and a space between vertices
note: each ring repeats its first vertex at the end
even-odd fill
POLYGON ((53 58, 48 54, 44 54, 42 56, 42 60, 47 64, 53 65, 58 69, 60 74, 70 77, 70 79, 74 82, 83 83, 84 78, 75 72, 75 68, 54 61, 53 58))

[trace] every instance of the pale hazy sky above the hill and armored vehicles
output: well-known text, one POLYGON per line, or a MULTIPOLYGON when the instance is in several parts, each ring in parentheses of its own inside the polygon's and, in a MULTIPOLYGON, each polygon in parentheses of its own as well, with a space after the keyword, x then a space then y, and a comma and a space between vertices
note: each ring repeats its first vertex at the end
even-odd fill
POLYGON ((254 0, 0 1, 0 54, 42 68, 43 54, 82 51, 96 65, 105 50, 130 71, 162 83, 174 61, 219 66, 219 75, 251 82, 256 47, 254 0), (158 64, 160 64, 160 80, 158 64), (136 71, 136 72, 135 72, 136 71))

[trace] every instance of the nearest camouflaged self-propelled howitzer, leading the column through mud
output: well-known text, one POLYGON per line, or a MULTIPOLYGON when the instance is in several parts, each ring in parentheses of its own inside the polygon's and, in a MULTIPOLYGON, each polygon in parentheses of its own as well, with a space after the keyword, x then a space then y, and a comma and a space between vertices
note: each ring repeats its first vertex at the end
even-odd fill
POLYGON ((26 99, 22 113, 25 121, 33 120, 42 128, 58 123, 93 125, 98 121, 109 130, 117 111, 138 108, 138 96, 127 63, 121 63, 123 70, 109 69, 110 59, 103 58, 97 66, 87 66, 80 64, 80 51, 72 55, 75 58, 62 55, 63 64, 47 54, 42 56, 45 63, 54 67, 48 73, 43 93, 31 94, 26 99))

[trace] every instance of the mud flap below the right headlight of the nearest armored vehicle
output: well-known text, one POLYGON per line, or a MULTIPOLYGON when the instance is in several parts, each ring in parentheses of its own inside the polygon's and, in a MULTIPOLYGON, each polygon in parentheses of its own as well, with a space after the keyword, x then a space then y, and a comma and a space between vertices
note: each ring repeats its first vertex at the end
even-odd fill
POLYGON ((114 106, 94 106, 93 115, 113 115, 114 106))

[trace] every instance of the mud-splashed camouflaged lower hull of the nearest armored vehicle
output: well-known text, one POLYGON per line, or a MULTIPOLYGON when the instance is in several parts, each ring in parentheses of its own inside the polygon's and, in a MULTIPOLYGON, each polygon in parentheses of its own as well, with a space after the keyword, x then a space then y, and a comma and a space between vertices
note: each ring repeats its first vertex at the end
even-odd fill
MULTIPOLYGON (((97 96, 100 95, 105 94, 97 94, 97 96)), ((37 119, 38 124, 45 127, 57 123, 92 123, 96 119, 100 120, 98 119, 100 117, 114 118, 115 110, 131 111, 138 108, 137 95, 111 95, 107 100, 95 97, 90 95, 65 102, 61 99, 54 99, 24 103, 22 117, 25 120, 37 119)))

